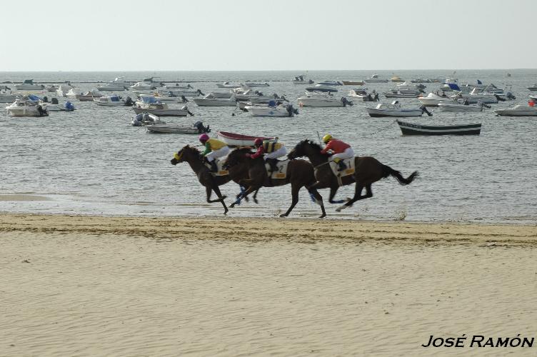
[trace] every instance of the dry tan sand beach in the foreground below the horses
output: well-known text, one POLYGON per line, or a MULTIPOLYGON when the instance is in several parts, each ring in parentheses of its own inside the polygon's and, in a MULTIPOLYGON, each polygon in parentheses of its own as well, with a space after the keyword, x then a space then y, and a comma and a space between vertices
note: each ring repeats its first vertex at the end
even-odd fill
POLYGON ((0 356, 536 356, 537 228, 0 215, 0 356), (469 344, 469 343, 467 343, 469 344))

